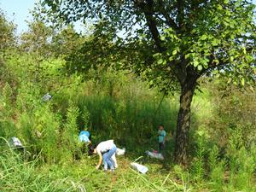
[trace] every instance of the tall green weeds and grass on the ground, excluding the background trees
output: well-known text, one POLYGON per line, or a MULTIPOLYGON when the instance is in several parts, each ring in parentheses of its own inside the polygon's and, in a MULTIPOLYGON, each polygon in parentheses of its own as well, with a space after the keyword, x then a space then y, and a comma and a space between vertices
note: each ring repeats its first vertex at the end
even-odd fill
POLYGON ((223 90, 214 84, 205 84, 202 93, 196 92, 192 102, 192 161, 184 170, 169 164, 173 150, 169 135, 172 132, 175 136, 177 96, 166 97, 159 106, 162 95, 149 90, 133 74, 90 69, 84 76, 65 76, 60 73, 65 64, 60 59, 42 61, 36 80, 36 57, 7 58, 1 68, 7 70, 9 78, 1 82, 4 120, 0 122, 0 134, 19 137, 32 154, 32 161, 7 153, 7 145, 0 142, 0 152, 4 151, 0 153, 1 191, 119 191, 120 186, 125 191, 255 190, 256 153, 253 132, 250 134, 253 94, 231 89, 218 101, 223 90), (53 98, 42 102, 46 91, 53 98), (159 124, 165 125, 168 136, 164 166, 160 161, 143 160, 149 171, 138 174, 128 168, 130 162, 145 150, 157 148, 159 124), (84 129, 92 133, 93 143, 113 138, 118 146, 126 148, 125 157, 118 157, 116 172, 96 171, 96 158, 82 154, 84 146, 78 142, 78 134, 84 129))

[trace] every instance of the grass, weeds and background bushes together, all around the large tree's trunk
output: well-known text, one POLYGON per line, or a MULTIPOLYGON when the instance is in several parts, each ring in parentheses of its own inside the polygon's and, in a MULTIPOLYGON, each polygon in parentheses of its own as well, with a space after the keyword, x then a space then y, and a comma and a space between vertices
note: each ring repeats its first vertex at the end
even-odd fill
MULTIPOLYGON (((20 37, 0 15, 0 191, 256 191, 255 82, 198 79, 188 160, 179 166, 173 158, 178 92, 166 95, 165 82, 157 88, 148 74, 120 67, 127 53, 109 59, 111 39, 79 34, 72 25, 51 28, 38 15, 43 10, 36 6, 20 37), (48 92, 53 97, 43 102, 48 92), (167 131, 163 161, 145 155, 157 149, 160 124, 167 131), (84 128, 93 143, 113 138, 126 148, 115 172, 96 171, 96 157, 78 141, 84 128), (10 137, 28 152, 9 148, 10 137), (148 166, 146 175, 131 169, 134 160, 148 166)), ((247 73, 255 78, 252 66, 247 73)))

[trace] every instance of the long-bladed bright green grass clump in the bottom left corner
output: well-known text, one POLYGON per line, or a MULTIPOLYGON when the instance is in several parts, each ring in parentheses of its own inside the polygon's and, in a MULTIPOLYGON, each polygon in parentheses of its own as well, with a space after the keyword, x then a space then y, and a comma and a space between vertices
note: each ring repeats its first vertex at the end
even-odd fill
MULTIPOLYGON (((3 137, 1 138, 3 139, 3 137)), ((0 190, 7 191, 78 191, 81 184, 68 182, 68 178, 51 179, 38 169, 38 159, 23 161, 20 154, 10 148, 0 153, 0 190), (78 187, 76 187, 78 186, 78 187)))

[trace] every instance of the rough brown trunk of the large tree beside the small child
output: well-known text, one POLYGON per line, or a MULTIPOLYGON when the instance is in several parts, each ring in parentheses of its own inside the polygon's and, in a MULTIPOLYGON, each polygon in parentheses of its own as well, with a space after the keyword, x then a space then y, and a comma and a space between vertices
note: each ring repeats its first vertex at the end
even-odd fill
POLYGON ((177 131, 174 160, 179 165, 187 164, 189 147, 189 125, 190 125, 190 107, 194 96, 196 80, 186 80, 182 84, 180 96, 180 108, 177 115, 177 131))

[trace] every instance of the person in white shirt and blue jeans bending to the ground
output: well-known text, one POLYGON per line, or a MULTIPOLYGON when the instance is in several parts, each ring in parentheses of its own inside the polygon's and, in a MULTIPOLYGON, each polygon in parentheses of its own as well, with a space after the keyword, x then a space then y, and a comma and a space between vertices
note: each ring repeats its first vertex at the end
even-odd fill
POLYGON ((116 146, 113 143, 113 140, 108 140, 98 145, 90 145, 89 147, 89 154, 98 154, 99 155, 99 163, 96 166, 96 169, 99 169, 102 165, 102 161, 104 164, 104 170, 107 171, 108 167, 111 171, 117 167, 117 163, 115 160, 115 153, 116 153, 116 146), (113 158, 114 155, 114 158, 113 158), (115 162, 114 162, 115 161, 115 162))

